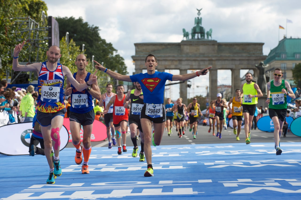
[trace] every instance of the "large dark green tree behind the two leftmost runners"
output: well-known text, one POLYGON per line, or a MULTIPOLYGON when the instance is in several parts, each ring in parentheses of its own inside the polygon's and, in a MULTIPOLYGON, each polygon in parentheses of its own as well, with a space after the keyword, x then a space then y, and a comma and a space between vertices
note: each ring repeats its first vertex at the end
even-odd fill
MULTIPOLYGON (((59 23, 60 39, 66 35, 66 32, 69 32, 70 41, 73 39, 79 50, 82 50, 82 44, 85 44, 85 54, 88 61, 91 61, 94 55, 95 60, 104 63, 104 67, 120 74, 127 74, 123 57, 117 54, 117 50, 111 43, 107 43, 106 40, 100 37, 98 26, 90 26, 87 22, 84 22, 81 17, 79 17, 79 19, 75 19, 74 17, 56 17, 55 19, 59 23)), ((99 83, 106 85, 108 78, 105 77, 107 77, 107 75, 103 73, 97 74, 98 76, 104 76, 105 82, 99 83)), ((113 79, 110 80, 110 83, 115 85, 113 79)), ((105 91, 105 87, 101 86, 100 88, 101 92, 105 91)))

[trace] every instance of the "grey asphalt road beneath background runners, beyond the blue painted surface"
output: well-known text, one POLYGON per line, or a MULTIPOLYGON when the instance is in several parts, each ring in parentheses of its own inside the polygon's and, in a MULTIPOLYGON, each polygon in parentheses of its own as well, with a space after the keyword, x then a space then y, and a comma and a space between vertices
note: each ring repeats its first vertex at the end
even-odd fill
MULTIPOLYGON (((197 139, 193 139, 192 132, 186 130, 186 134, 182 138, 178 138, 175 128, 172 129, 173 134, 169 137, 167 131, 164 131, 161 145, 186 145, 186 144, 222 144, 222 143, 244 143, 244 129, 240 133, 240 141, 236 141, 236 135, 233 134, 233 129, 222 130, 222 138, 219 139, 216 136, 208 133, 209 126, 198 126, 197 139)), ((127 135, 126 146, 132 147, 132 141, 130 135, 127 135)), ((274 142, 274 135, 272 132, 263 132, 260 130, 251 130, 251 144, 255 142, 270 143, 274 142)), ((301 137, 293 135, 291 132, 287 133, 287 137, 281 136, 281 142, 301 142, 301 137)), ((140 146, 140 140, 137 143, 140 146)), ((108 141, 92 142, 92 147, 105 147, 108 145, 108 141)), ((67 145, 73 147, 72 143, 67 145)), ((74 147, 73 147, 74 148, 74 147)), ((116 148, 116 146, 113 148, 116 148)), ((129 149, 129 148, 128 148, 129 149)))

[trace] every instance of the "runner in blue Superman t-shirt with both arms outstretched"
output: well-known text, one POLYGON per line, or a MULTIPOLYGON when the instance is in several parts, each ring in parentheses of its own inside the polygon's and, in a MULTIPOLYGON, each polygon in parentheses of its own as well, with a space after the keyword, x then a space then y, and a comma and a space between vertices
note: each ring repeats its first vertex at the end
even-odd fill
POLYGON ((144 172, 144 176, 154 176, 151 160, 151 143, 153 143, 154 146, 160 145, 163 137, 166 121, 166 110, 163 105, 163 96, 166 81, 189 80, 200 75, 206 75, 208 73, 208 69, 212 67, 204 68, 200 71, 196 71, 195 73, 173 75, 166 72, 155 71, 156 66, 158 65, 157 58, 154 55, 149 54, 146 56, 144 64, 147 68, 147 73, 128 76, 108 70, 95 60, 94 62, 97 64, 95 65, 96 69, 104 71, 104 73, 107 73, 114 79, 140 83, 141 88, 144 91, 144 106, 142 107, 140 115, 140 121, 144 133, 145 159, 147 161, 147 170, 144 172), (152 131, 152 124, 154 124, 154 131, 152 131), (153 137, 151 137, 151 135, 153 135, 153 137))

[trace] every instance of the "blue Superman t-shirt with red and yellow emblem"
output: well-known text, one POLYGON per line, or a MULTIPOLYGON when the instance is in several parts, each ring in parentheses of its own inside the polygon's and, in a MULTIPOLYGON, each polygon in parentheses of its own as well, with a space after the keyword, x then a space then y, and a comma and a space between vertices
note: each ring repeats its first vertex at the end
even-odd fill
POLYGON ((149 104, 164 103, 166 80, 172 80, 172 74, 156 71, 154 74, 135 74, 130 76, 132 82, 139 82, 143 91, 143 102, 149 104))

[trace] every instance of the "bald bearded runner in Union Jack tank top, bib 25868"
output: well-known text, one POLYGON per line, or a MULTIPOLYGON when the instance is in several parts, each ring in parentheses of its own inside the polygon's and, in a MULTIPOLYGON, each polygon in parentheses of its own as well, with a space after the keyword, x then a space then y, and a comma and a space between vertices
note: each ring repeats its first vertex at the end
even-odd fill
POLYGON ((13 55, 14 71, 36 71, 38 76, 38 110, 36 119, 41 125, 41 132, 45 145, 45 156, 50 168, 49 177, 46 181, 48 184, 55 183, 56 176, 62 174, 59 152, 60 152, 60 130, 63 126, 64 114, 66 108, 64 105, 64 76, 68 78, 70 83, 78 90, 82 91, 95 83, 97 77, 95 73, 84 84, 79 84, 72 76, 68 67, 58 63, 58 59, 62 56, 61 50, 57 46, 51 46, 47 51, 48 61, 41 63, 33 63, 30 65, 19 65, 18 55, 22 50, 22 44, 16 45, 13 55), (52 139, 52 140, 51 140, 52 139), (53 141, 53 142, 52 142, 53 141), (51 150, 54 148, 54 159, 52 160, 51 150))

